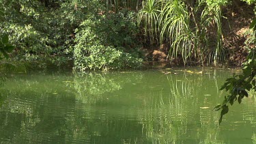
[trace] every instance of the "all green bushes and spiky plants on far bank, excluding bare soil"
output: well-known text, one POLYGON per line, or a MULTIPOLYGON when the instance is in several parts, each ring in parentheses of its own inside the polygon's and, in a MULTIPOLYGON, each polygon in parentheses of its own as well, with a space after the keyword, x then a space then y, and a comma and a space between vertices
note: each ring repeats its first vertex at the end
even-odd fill
MULTIPOLYGON (((243 1, 253 4, 255 0, 243 1)), ((222 26, 222 11, 229 3, 0 0, 0 35, 12 35, 15 59, 59 66, 74 60, 76 70, 137 68, 143 38, 144 45, 169 43, 171 60, 217 66, 229 56, 222 26)))

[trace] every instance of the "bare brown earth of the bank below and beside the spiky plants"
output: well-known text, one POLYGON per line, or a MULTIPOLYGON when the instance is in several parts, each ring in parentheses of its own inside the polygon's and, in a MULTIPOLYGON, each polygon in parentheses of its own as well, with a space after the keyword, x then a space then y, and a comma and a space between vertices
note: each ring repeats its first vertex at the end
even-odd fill
MULTIPOLYGON (((223 47, 226 51, 226 59, 221 67, 240 67, 246 60, 248 51, 255 44, 255 35, 249 26, 255 14, 253 5, 240 5, 240 7, 226 7, 223 10, 223 47)), ((167 63, 169 66, 207 66, 207 63, 188 61, 184 64, 182 57, 169 59, 170 44, 154 44, 143 46, 145 57, 150 65, 152 63, 167 63)))

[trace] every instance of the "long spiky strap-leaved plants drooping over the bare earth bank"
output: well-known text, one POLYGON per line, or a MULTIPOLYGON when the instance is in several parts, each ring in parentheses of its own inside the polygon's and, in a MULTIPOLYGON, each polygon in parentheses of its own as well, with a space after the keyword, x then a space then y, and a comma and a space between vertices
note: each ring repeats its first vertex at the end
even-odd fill
POLYGON ((217 65, 226 57, 221 27, 223 5, 227 5, 227 0, 147 0, 138 21, 152 43, 170 43, 171 60, 181 56, 184 63, 193 59, 217 65))

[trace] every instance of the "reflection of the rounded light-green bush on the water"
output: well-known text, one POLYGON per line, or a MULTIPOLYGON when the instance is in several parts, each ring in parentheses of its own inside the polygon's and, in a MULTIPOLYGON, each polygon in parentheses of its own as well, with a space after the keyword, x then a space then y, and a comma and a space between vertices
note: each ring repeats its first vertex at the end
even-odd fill
MULTIPOLYGON (((83 103, 95 103, 104 93, 111 93, 122 89, 126 83, 135 83, 141 80, 139 72, 87 72, 75 73, 74 85, 76 98, 83 103), (135 82, 134 82, 135 81, 135 82)), ((69 82, 67 82, 69 83, 69 82)))

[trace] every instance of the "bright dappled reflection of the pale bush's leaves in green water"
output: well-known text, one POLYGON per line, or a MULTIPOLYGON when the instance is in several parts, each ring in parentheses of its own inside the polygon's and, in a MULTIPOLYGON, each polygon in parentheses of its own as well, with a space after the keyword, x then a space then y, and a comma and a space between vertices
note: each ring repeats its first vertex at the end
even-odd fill
POLYGON ((74 83, 70 83, 76 91, 76 98, 85 104, 94 104, 104 93, 122 89, 123 81, 117 81, 119 75, 108 76, 104 73, 75 73, 74 83), (83 83, 83 85, 81 85, 83 83))

